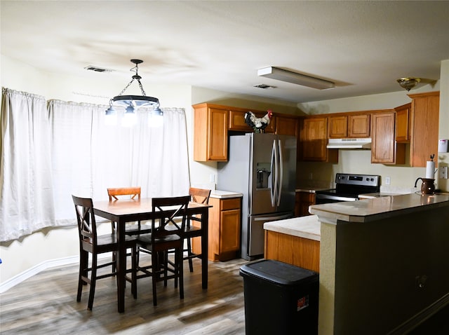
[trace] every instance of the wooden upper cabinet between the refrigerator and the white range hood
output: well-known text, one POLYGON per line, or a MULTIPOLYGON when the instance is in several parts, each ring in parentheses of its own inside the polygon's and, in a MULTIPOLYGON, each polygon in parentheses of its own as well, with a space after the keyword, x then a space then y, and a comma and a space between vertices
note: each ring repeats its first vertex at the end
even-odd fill
POLYGON ((337 162, 338 150, 328 150, 328 118, 303 118, 300 125, 300 158, 305 161, 337 162))

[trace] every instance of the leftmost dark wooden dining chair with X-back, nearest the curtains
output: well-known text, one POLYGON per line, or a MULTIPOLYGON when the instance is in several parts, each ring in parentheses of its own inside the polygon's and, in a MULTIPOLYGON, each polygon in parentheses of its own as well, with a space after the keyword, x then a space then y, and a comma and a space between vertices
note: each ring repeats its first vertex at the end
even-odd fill
MULTIPOLYGON (((90 284, 91 289, 89 292, 87 309, 93 308, 93 297, 95 295, 95 284, 98 279, 112 277, 116 275, 115 266, 114 270, 110 273, 98 275, 99 268, 105 268, 106 266, 115 265, 115 261, 108 263, 98 264, 98 255, 105 252, 116 252, 119 249, 119 244, 116 239, 116 235, 111 233, 107 235, 98 235, 97 224, 95 221, 95 214, 93 213, 93 202, 91 198, 79 198, 72 196, 76 220, 78 222, 79 233, 79 276, 78 276, 78 293, 76 294, 76 301, 81 301, 81 293, 83 285, 90 284), (91 266, 89 266, 89 254, 92 254, 91 266), (89 277, 89 272, 91 276, 89 277)), ((136 264, 137 264, 137 244, 136 239, 131 236, 126 236, 126 249, 131 249, 132 266, 129 278, 126 275, 126 280, 131 282, 131 292, 133 296, 137 297, 137 278, 136 278, 136 264)))

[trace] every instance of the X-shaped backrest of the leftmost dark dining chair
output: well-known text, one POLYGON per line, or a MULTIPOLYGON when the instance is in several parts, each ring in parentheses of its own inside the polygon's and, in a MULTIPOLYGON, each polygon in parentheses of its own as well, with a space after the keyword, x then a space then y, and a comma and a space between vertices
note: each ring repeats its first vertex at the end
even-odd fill
POLYGON ((75 205, 76 220, 78 221, 79 242, 91 242, 97 245, 97 224, 93 214, 91 198, 72 196, 75 205))

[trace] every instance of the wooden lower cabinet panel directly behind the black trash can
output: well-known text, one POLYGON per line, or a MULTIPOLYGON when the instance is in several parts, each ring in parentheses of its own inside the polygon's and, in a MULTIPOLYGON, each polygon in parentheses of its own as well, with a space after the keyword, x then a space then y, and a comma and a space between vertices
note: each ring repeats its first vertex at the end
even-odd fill
POLYGON ((264 258, 319 272, 320 242, 276 231, 265 231, 264 258))

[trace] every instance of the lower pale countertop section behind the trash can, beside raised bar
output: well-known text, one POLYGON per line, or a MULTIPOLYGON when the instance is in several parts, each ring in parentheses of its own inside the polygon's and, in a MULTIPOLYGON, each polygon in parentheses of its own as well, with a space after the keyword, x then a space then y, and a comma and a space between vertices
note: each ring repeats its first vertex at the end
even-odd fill
POLYGON ((321 238, 320 221, 318 221, 316 215, 265 222, 264 229, 300 238, 308 238, 309 240, 319 241, 321 238))

